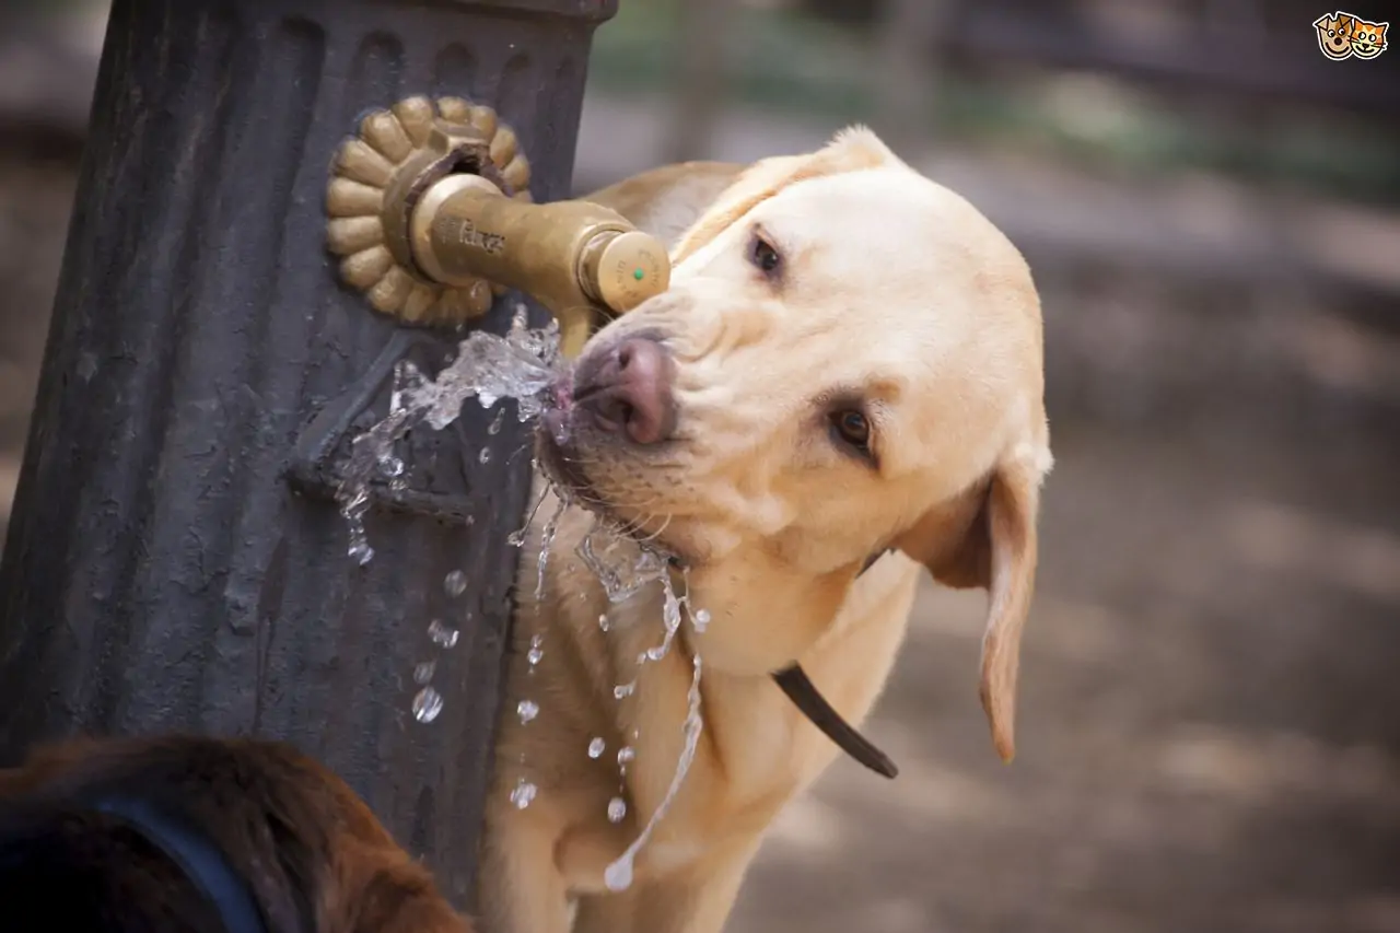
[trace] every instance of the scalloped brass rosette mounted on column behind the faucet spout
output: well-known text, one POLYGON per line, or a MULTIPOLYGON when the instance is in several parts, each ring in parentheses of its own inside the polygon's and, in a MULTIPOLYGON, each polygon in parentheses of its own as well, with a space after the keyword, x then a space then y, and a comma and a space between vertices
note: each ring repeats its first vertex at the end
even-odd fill
POLYGON ((472 172, 529 200, 529 161, 489 106, 459 97, 412 97, 360 122, 336 153, 326 191, 326 244, 340 277, 370 305, 405 322, 440 326, 486 314, 501 289, 484 279, 444 286, 417 270, 409 242, 416 198, 454 172, 472 172))

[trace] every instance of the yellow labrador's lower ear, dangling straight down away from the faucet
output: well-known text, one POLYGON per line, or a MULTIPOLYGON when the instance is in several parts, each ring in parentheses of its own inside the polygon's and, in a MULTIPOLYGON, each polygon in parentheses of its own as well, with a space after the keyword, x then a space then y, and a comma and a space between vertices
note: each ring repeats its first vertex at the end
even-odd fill
POLYGON ((925 514, 896 546, 944 586, 987 590, 981 706, 1002 761, 1015 756, 1021 633, 1036 579, 1036 514, 1049 451, 1012 457, 991 476, 925 514))

